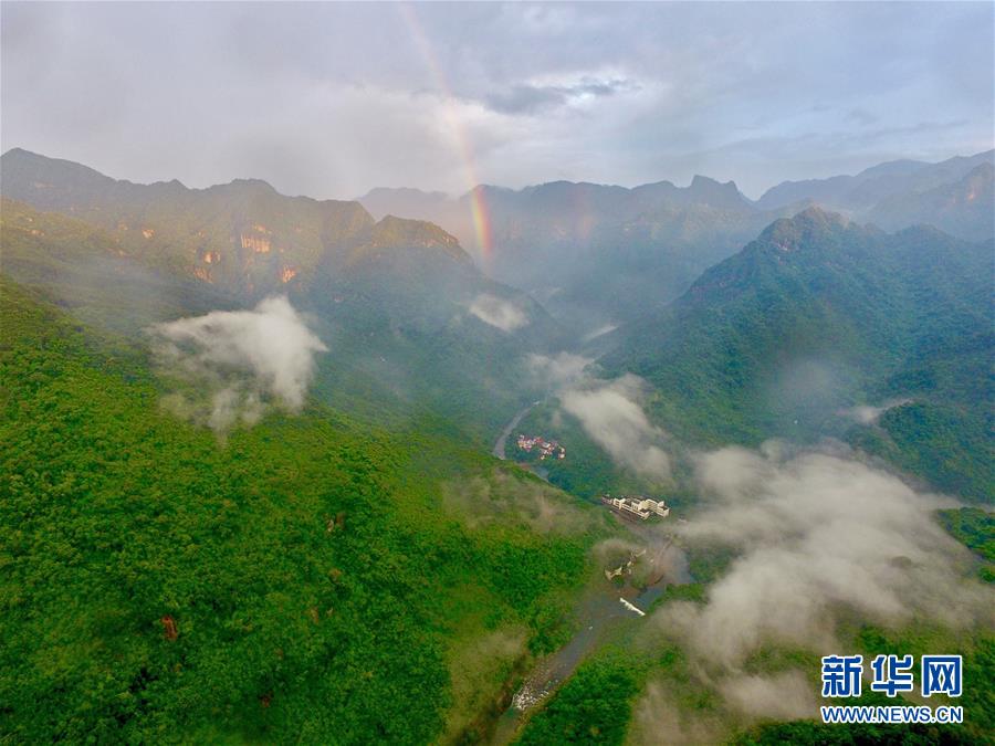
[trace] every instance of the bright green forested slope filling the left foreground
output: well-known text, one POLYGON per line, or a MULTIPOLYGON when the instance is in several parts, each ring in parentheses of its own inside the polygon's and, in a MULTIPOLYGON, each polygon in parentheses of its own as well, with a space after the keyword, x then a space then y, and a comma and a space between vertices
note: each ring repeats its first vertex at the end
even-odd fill
POLYGON ((0 297, 3 738, 425 743, 454 686, 496 696, 549 644, 590 514, 542 526, 544 487, 432 421, 312 406, 219 445, 159 408, 140 349, 0 297), (469 480, 511 495, 500 519, 442 501, 469 480), (520 643, 485 659, 493 635, 520 643))

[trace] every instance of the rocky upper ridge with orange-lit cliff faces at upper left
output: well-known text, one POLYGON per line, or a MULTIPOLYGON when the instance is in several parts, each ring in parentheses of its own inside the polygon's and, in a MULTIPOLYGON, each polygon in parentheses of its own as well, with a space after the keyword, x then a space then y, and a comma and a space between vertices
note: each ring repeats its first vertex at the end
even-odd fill
POLYGON ((422 250, 470 261, 430 223, 377 223, 358 202, 286 197, 256 179, 209 189, 137 185, 20 149, 4 154, 2 171, 4 197, 96 224, 124 251, 239 296, 306 284, 320 263, 370 252, 422 250))

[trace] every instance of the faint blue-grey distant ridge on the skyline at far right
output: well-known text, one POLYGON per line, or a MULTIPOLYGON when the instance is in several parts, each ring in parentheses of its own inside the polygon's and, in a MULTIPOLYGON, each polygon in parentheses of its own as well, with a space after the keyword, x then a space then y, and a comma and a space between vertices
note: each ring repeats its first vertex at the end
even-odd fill
MULTIPOLYGON (((882 200, 914 200, 920 192, 961 181, 978 166, 991 165, 993 161, 995 150, 970 157, 957 156, 938 164, 894 160, 865 169, 856 176, 785 181, 768 189, 756 204, 769 210, 810 200, 830 210, 851 213, 855 218, 870 219, 869 214, 882 200)), ((917 220, 910 211, 908 221, 896 228, 907 228, 917 222, 929 221, 917 220)), ((956 224, 953 227, 957 228, 956 224)), ((962 235, 956 230, 953 232, 962 235)))

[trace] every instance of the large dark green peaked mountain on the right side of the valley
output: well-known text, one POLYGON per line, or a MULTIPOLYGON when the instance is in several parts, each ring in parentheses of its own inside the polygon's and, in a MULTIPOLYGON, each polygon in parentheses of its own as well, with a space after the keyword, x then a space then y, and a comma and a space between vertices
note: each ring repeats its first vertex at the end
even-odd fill
POLYGON ((619 329, 601 365, 648 379, 691 441, 849 438, 991 500, 993 248, 809 208, 619 329))

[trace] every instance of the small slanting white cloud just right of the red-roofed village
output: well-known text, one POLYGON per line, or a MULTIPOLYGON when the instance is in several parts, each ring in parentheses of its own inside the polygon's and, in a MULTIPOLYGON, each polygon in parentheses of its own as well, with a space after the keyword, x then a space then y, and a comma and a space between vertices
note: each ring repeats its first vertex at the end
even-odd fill
POLYGON ((643 388, 641 379, 626 375, 567 388, 559 401, 616 463, 641 476, 669 480, 670 456, 661 448, 667 433, 651 424, 639 406, 643 388))

